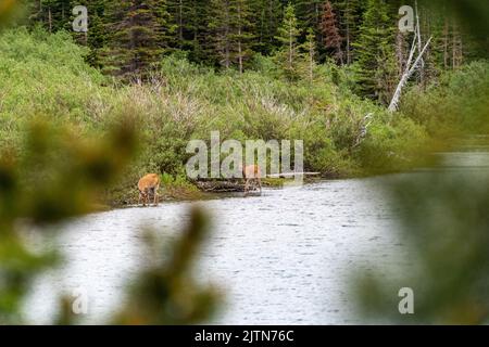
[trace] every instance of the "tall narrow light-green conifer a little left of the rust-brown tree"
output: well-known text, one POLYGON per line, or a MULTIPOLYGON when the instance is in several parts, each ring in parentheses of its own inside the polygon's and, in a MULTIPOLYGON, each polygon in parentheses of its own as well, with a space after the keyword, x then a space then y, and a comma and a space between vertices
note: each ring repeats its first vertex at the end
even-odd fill
POLYGON ((300 31, 296 17, 296 10, 289 2, 289 4, 285 9, 284 21, 278 28, 276 39, 281 44, 277 59, 280 65, 284 67, 286 76, 290 79, 297 78, 298 73, 297 65, 299 63, 299 35, 300 31))

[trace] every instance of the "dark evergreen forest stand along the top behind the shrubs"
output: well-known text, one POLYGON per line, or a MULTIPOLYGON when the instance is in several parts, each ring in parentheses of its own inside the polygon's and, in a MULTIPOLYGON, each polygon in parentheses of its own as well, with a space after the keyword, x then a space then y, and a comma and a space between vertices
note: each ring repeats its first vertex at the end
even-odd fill
MULTIPOLYGON (((90 48, 91 65, 123 77, 145 75, 163 53, 178 50, 192 62, 240 72, 254 52, 274 55, 294 78, 310 62, 306 46, 314 43, 314 61, 331 55, 338 63, 355 63, 359 93, 385 101, 412 40, 412 34, 396 30, 402 0, 24 1, 29 26, 72 33, 90 48), (88 9, 88 33, 73 31, 72 10, 78 4, 88 9)), ((480 41, 487 39, 468 37, 448 13, 430 13, 429 7, 419 12, 423 39, 434 36, 425 81, 486 55, 480 41)))

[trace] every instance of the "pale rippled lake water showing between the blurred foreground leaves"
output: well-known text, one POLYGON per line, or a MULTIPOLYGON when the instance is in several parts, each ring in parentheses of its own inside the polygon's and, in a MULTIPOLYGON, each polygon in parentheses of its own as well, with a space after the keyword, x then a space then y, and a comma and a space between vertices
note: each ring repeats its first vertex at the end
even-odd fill
MULTIPOLYGON (((446 165, 462 172, 488 163, 488 153, 465 153, 448 155, 446 165)), ((397 232, 396 210, 379 190, 389 179, 327 181, 265 190, 259 197, 202 202, 214 217, 214 229, 196 275, 226 293, 212 323, 361 323, 347 285, 352 266, 401 271, 411 262, 397 232)), ((57 293, 82 290, 89 298, 84 322, 103 322, 123 298, 125 281, 150 261, 139 227, 154 227, 172 237, 188 218, 188 207, 172 203, 120 209, 66 226, 52 245, 66 259, 59 271, 38 281, 26 316, 37 323, 49 321, 57 293)))

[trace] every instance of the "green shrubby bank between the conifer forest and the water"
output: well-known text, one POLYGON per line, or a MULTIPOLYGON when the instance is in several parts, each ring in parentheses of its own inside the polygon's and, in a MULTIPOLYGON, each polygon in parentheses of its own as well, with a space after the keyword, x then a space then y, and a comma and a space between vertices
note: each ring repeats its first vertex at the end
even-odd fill
POLYGON ((185 179, 186 145, 210 141, 211 131, 221 131, 223 141, 301 139, 305 170, 326 178, 406 170, 429 141, 419 92, 410 91, 408 116, 389 114, 354 95, 348 69, 333 64, 318 65, 313 81, 290 82, 265 57, 239 75, 174 54, 151 81, 120 85, 86 64, 87 54, 63 33, 20 28, 0 36, 0 145, 22 146, 25 126, 40 116, 70 125, 80 138, 103 137, 114 123, 135 120, 139 154, 109 190, 113 205, 134 203, 138 178, 150 171, 162 175, 166 198, 201 197, 185 179))

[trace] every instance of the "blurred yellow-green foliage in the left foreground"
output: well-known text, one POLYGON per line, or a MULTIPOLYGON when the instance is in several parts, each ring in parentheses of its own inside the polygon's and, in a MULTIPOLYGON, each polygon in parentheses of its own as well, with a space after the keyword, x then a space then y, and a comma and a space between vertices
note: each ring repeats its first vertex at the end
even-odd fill
POLYGON ((42 271, 55 265, 52 249, 33 249, 23 237, 52 235, 67 218, 97 210, 97 196, 134 155, 136 133, 121 123, 102 140, 80 139, 73 129, 33 123, 23 151, 0 153, 0 322, 18 323, 20 308, 42 271), (23 221, 20 223, 20 221, 23 221))

